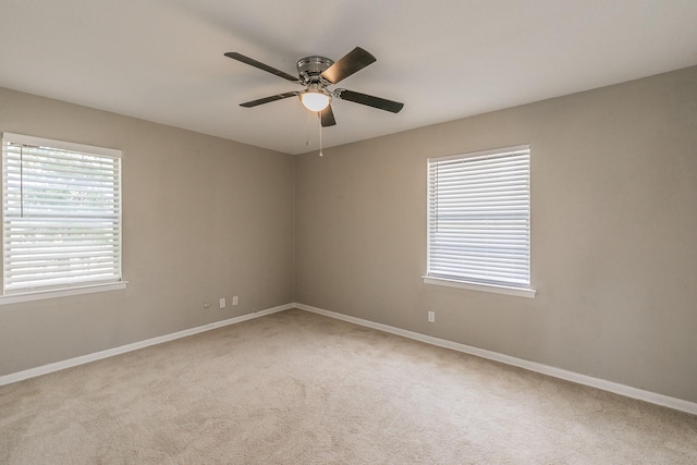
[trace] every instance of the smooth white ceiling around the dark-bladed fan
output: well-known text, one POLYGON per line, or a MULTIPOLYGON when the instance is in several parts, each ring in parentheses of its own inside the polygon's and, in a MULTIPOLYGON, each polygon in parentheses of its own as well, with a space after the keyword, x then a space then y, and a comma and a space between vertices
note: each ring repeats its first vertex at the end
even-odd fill
POLYGON ((297 99, 239 103, 301 87, 224 52, 290 74, 375 54, 339 87, 404 110, 334 101, 329 147, 697 64, 696 20, 696 0, 2 0, 0 86, 299 154, 319 131, 297 99))

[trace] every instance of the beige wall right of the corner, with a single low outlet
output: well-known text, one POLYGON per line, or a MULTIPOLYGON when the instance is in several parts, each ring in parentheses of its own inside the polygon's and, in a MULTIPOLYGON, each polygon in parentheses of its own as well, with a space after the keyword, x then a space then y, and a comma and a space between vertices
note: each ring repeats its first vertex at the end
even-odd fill
POLYGON ((697 68, 301 156, 296 257, 296 302, 697 402, 697 68), (537 297, 424 284, 426 159, 519 144, 537 297))

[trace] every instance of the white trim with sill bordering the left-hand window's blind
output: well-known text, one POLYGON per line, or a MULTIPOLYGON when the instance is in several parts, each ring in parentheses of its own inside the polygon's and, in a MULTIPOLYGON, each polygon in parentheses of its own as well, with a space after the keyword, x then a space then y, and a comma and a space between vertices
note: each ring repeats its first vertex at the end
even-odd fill
MULTIPOLYGON (((73 152, 87 154, 97 157, 111 158, 119 160, 118 175, 119 175, 119 250, 118 250, 118 265, 119 265, 119 279, 118 280, 103 280, 103 281, 76 281, 72 283, 65 283, 60 285, 47 285, 38 287, 29 287, 26 290, 5 291, 4 285, 0 285, 0 305, 14 304, 21 302, 39 301, 46 298, 62 297, 69 295, 80 295, 96 292, 106 292, 122 290, 126 287, 127 281, 123 279, 123 194, 122 194, 122 179, 123 179, 123 151, 113 148, 106 148, 86 144, 77 144, 65 140, 50 139, 46 137, 28 136, 23 134, 4 132, 0 133, 0 140, 2 142, 2 157, 4 157, 4 144, 9 140, 13 144, 22 144, 28 146, 49 147, 57 150, 65 150, 73 152)), ((2 173, 4 175, 4 173, 2 173)), ((4 184, 4 181, 3 181, 4 184)), ((4 207, 0 213, 0 220, 4 223, 4 207)), ((0 269, 4 273, 4 266, 0 269)))

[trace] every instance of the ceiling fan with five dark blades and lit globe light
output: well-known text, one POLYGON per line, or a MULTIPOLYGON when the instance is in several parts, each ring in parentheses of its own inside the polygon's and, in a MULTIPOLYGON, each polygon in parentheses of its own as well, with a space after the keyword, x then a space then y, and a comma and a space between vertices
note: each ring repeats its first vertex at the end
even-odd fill
POLYGON ((332 98, 366 105, 368 107, 390 111, 392 113, 399 113, 404 107, 404 103, 399 101, 392 101, 342 88, 329 88, 329 86, 339 83, 376 61, 376 58, 370 52, 362 49, 360 47, 354 48, 335 62, 326 57, 318 56, 301 58, 297 61, 297 76, 293 76, 234 51, 225 53, 225 57, 241 61, 250 66, 258 68, 267 73, 274 74, 305 87, 304 90, 277 94, 257 100, 246 101, 241 103, 241 107, 252 108, 258 105, 297 96, 305 108, 319 113, 321 125, 325 127, 337 124, 334 113, 331 109, 332 98))

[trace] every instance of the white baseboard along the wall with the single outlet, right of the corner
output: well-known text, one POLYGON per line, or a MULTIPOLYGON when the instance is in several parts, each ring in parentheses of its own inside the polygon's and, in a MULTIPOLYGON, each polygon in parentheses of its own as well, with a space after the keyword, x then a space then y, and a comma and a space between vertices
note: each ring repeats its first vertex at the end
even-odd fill
POLYGON ((500 362, 506 365, 513 365, 515 367, 524 368, 530 371, 536 371, 542 375, 548 375, 548 376, 563 379, 566 381, 572 381, 578 384, 585 384, 585 386, 597 388, 603 391, 613 392, 615 394, 624 395, 625 397, 637 399, 640 401, 649 402, 651 404, 662 405, 664 407, 697 415, 697 403, 684 401, 682 399, 670 397, 668 395, 658 394, 656 392, 632 388, 629 386, 620 384, 616 382, 607 381, 603 379, 594 378, 586 375, 580 375, 574 371, 567 371, 564 369, 550 367, 548 365, 542 365, 535 362, 524 360, 522 358, 511 357, 509 355, 499 354, 497 352, 485 351, 484 348, 473 347, 470 345, 460 344, 457 342, 433 338, 433 336, 421 334, 418 332, 394 328, 388 325, 376 323, 374 321, 364 320, 362 318, 355 318, 355 317, 350 317, 347 315, 337 314, 334 311, 325 310, 322 308, 317 308, 309 305, 296 303, 296 304, 293 304, 293 306, 295 308, 299 308, 301 310, 311 311, 314 314, 319 314, 326 317, 352 322, 354 325, 359 325, 359 326, 377 329, 379 331, 384 331, 392 334, 401 335, 404 338, 414 339, 416 341, 425 342, 427 344, 438 345, 440 347, 445 347, 445 348, 452 348, 453 351, 463 352, 465 354, 476 355, 481 358, 488 358, 490 360, 500 362))

